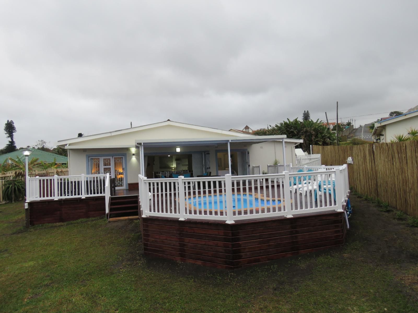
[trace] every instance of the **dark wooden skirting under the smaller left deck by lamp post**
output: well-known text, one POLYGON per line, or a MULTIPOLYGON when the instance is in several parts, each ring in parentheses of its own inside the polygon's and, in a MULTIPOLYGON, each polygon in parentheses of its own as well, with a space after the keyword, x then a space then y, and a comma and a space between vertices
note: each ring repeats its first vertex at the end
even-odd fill
POLYGON ((28 206, 31 226, 106 215, 104 197, 31 201, 28 206))

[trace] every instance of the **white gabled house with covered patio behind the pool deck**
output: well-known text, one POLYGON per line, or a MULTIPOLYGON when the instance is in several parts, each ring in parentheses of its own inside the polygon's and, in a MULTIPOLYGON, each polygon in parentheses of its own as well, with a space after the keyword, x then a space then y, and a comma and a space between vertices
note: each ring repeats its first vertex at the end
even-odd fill
POLYGON ((295 146, 300 142, 167 120, 60 140, 58 145, 68 149, 69 175, 110 173, 118 189, 137 189, 138 174, 249 175, 255 174, 252 166, 267 171, 275 159, 296 164, 295 146))

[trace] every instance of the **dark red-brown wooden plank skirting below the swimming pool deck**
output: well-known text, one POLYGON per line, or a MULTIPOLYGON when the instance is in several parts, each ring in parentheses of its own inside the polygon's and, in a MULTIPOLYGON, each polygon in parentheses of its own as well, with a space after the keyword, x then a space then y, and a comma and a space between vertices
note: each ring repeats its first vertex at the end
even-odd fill
POLYGON ((342 245, 343 212, 224 221, 141 218, 146 255, 235 269, 342 245))

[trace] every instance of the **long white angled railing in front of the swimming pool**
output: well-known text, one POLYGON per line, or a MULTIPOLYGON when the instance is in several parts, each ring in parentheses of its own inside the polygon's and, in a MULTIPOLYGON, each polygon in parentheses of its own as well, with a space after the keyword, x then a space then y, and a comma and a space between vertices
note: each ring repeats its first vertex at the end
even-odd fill
POLYGON ((342 212, 349 192, 347 165, 301 173, 178 179, 139 175, 138 179, 143 217, 227 223, 329 210, 342 212))

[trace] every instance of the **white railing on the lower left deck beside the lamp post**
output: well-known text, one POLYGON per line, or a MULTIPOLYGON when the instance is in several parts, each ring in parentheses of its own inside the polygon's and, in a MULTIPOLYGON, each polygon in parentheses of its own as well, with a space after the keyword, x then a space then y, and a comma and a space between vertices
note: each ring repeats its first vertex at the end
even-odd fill
POLYGON ((108 174, 28 177, 28 199, 68 199, 105 195, 108 174))

